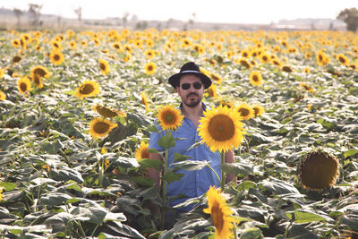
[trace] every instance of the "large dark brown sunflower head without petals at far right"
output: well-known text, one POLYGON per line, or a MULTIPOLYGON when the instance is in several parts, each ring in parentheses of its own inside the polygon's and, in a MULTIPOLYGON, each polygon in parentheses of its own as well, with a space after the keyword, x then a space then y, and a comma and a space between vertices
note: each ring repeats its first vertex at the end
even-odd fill
POLYGON ((313 151, 303 158, 298 171, 304 188, 321 191, 336 184, 339 162, 325 152, 313 151))

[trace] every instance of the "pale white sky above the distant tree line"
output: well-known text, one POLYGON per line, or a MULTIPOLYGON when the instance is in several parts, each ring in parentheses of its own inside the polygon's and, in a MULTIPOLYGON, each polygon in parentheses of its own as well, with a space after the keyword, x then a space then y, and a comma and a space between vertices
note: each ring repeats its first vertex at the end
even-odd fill
POLYGON ((41 13, 82 19, 122 18, 136 15, 139 20, 268 24, 299 18, 336 19, 345 8, 358 9, 358 0, 0 0, 0 8, 28 10, 42 4, 41 13))

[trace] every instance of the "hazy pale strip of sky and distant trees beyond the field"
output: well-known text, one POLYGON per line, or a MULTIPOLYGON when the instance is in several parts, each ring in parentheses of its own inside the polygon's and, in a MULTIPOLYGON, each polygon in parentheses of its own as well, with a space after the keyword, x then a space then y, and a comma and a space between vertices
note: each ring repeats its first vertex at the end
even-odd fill
POLYGON ((358 1, 0 1, 2 29, 356 30, 358 1))

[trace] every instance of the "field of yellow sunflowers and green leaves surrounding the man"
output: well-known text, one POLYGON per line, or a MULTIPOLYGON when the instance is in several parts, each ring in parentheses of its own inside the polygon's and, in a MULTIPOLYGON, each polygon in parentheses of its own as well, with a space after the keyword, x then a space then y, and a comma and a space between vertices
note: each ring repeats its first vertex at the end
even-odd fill
POLYGON ((3 30, 0 55, 2 238, 358 238, 357 34, 3 30), (237 183, 163 226, 149 135, 189 61, 244 131, 237 183))

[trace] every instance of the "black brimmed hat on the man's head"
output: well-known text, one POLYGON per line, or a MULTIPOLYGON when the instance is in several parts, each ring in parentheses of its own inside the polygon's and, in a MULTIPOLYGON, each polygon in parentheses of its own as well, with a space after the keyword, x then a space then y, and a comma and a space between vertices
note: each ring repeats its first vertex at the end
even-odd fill
POLYGON ((168 81, 174 88, 176 88, 180 84, 180 78, 185 74, 193 74, 200 77, 200 80, 204 84, 205 89, 209 88, 211 85, 211 80, 209 77, 201 73, 199 66, 193 62, 183 64, 182 68, 180 68, 180 73, 172 75, 169 77, 168 81))

